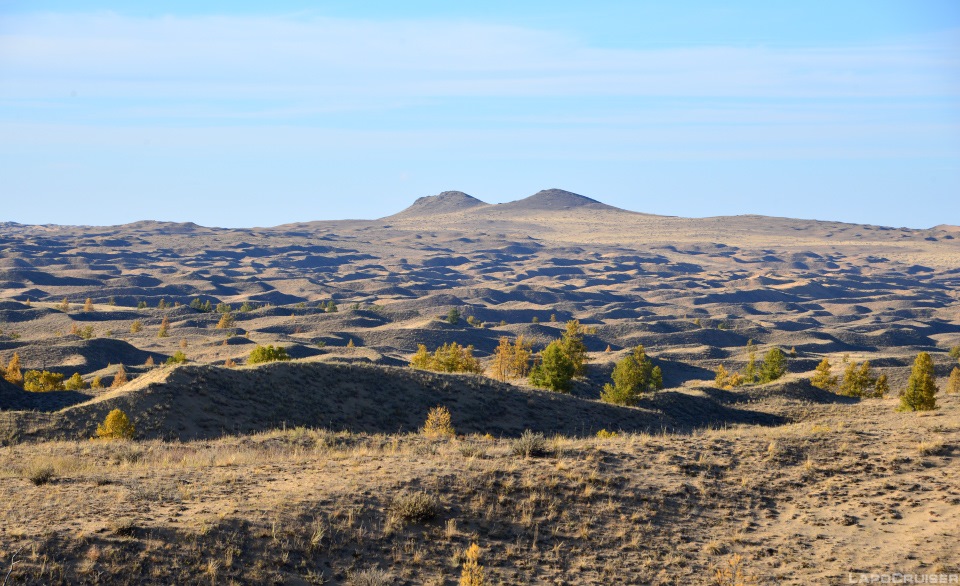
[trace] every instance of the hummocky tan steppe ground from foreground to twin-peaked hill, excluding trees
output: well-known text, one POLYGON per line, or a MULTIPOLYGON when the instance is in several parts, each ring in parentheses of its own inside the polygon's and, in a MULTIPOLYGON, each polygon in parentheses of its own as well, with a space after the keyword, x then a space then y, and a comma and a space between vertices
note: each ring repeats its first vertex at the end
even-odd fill
POLYGON ((946 224, 664 217, 556 189, 273 228, 3 223, 0 365, 107 388, 0 380, 0 577, 454 584, 471 543, 489 584, 957 573, 960 396, 895 410, 917 353, 943 389, 956 345, 946 224), (408 366, 418 344, 541 350, 571 319, 590 362, 570 394, 408 366), (716 388, 750 340, 788 352, 787 375, 716 388), (294 360, 244 366, 258 344, 294 360), (638 344, 665 389, 600 402, 638 344), (869 360, 891 394, 811 386, 824 357, 869 360), (456 438, 417 432, 437 405, 456 438), (90 441, 115 408, 136 440, 90 441), (405 517, 421 493, 430 514, 405 517))

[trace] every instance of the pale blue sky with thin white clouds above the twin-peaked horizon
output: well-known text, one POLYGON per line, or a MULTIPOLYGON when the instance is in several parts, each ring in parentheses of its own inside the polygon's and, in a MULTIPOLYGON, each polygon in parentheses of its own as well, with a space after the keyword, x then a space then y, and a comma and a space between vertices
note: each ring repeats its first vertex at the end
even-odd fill
POLYGON ((0 222, 960 224, 960 2, 0 0, 0 222))

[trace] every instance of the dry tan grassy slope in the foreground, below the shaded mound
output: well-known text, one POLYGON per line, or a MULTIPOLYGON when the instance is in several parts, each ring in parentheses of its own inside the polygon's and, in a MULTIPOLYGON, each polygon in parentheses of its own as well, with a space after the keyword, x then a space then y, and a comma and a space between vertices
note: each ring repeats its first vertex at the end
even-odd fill
POLYGON ((164 584, 449 584, 472 543, 489 584, 950 570, 960 489, 933 480, 958 478, 944 446, 960 440, 960 400, 943 404, 945 418, 864 402, 777 428, 552 437, 539 458, 518 458, 511 439, 305 428, 21 443, 0 448, 0 560, 26 547, 11 579, 36 584, 130 568, 164 584), (940 457, 919 458, 920 442, 940 457), (483 456, 464 457, 465 444, 483 456), (56 481, 34 486, 26 464, 56 481))

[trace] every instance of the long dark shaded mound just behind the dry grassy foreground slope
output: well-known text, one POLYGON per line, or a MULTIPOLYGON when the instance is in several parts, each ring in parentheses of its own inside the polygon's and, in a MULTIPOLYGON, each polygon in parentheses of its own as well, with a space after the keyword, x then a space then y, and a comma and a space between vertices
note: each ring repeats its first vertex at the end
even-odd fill
POLYGON ((155 369, 126 386, 56 413, 31 414, 32 428, 8 413, 21 438, 90 437, 112 409, 129 414, 141 438, 198 439, 307 426, 363 433, 416 431, 444 405, 461 433, 519 435, 526 429, 570 436, 600 429, 646 431, 781 418, 733 408, 703 393, 664 392, 640 408, 498 383, 365 364, 285 362, 256 368, 155 369), (39 423, 38 423, 39 422, 39 423))

